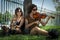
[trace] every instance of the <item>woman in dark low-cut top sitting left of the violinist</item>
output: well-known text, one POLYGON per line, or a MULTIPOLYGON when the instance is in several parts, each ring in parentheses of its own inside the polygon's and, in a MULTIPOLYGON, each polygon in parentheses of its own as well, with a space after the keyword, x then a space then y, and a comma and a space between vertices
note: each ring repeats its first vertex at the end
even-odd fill
POLYGON ((11 21, 10 29, 15 33, 22 33, 24 27, 24 17, 21 8, 16 8, 15 15, 11 21))

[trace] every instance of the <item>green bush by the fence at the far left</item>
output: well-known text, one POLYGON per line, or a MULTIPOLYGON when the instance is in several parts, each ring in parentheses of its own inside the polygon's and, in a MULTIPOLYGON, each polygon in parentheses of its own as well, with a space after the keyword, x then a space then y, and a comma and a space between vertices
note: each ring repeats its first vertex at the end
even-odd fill
POLYGON ((12 18, 12 15, 6 11, 5 13, 0 13, 0 23, 2 24, 6 24, 7 22, 9 22, 12 18))

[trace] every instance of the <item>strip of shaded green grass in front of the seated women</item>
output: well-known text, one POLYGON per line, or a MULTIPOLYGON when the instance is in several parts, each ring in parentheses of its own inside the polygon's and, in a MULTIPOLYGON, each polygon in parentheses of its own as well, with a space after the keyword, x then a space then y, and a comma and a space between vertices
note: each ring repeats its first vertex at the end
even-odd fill
POLYGON ((44 36, 31 36, 31 35, 10 35, 10 36, 5 36, 1 37, 0 40, 38 40, 38 39, 43 39, 44 36))

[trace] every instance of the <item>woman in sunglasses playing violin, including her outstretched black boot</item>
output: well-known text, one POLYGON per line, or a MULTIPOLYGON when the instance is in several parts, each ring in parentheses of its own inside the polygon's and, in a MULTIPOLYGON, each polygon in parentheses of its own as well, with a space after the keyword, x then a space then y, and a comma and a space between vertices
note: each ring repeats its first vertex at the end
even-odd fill
MULTIPOLYGON (((35 15, 36 12, 37 12, 37 6, 34 4, 31 4, 28 7, 28 15, 25 18, 25 33, 29 33, 32 35, 42 34, 42 35, 46 35, 50 38, 58 38, 58 32, 55 29, 46 31, 44 29, 39 28, 39 25, 38 25, 41 23, 43 26, 45 26, 48 23, 49 19, 54 18, 54 17, 48 16, 46 22, 43 22, 43 21, 41 21, 41 19, 36 20, 33 17, 33 15, 35 15)), ((46 15, 46 14, 43 14, 43 15, 46 15)), ((45 17, 42 17, 42 18, 45 19, 45 17)))

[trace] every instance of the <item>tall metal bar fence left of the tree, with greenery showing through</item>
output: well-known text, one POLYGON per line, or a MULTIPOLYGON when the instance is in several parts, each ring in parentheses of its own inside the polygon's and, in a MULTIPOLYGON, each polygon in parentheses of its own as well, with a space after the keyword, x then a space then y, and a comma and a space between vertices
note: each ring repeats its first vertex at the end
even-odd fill
POLYGON ((14 15, 15 9, 17 7, 23 9, 22 0, 0 0, 0 15, 2 15, 0 18, 0 24, 9 24, 9 18, 14 15))

